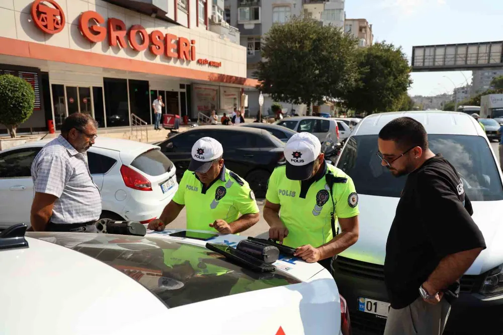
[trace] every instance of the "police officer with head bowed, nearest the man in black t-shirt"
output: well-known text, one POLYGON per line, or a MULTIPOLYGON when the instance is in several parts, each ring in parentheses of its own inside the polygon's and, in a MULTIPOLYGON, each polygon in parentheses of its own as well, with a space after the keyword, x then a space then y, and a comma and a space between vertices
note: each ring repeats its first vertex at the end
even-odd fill
POLYGON ((330 271, 332 257, 358 240, 355 185, 324 160, 321 143, 310 133, 293 135, 284 154, 286 164, 276 167, 266 194, 269 237, 296 248, 294 255, 308 263, 321 261, 330 271))

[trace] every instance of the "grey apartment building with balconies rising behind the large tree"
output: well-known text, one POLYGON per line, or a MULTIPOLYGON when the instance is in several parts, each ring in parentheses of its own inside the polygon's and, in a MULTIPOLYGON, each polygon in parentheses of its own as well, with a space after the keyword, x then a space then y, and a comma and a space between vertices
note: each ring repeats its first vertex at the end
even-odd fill
MULTIPOLYGON (((344 27, 344 0, 225 0, 225 19, 230 26, 237 27, 240 44, 246 47, 246 75, 253 77, 257 64, 262 60, 261 41, 271 27, 283 24, 294 16, 316 19, 323 25, 344 27)), ((259 112, 259 95, 256 89, 245 88, 248 95, 248 114, 259 112)), ((264 95, 263 113, 268 113, 274 101, 264 95)), ((305 115, 305 105, 282 103, 283 108, 305 115)))

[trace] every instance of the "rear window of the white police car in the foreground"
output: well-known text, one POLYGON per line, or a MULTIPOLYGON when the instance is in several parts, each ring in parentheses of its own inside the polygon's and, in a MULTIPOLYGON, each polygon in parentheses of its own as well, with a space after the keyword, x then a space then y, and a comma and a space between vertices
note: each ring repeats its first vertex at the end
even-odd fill
MULTIPOLYGON (((76 250, 128 275, 167 307, 300 283, 279 273, 256 273, 211 250, 162 238, 107 234, 28 233, 76 250)), ((113 285, 113 283, 108 283, 113 285)), ((100 289, 97 288, 99 294, 100 289)))

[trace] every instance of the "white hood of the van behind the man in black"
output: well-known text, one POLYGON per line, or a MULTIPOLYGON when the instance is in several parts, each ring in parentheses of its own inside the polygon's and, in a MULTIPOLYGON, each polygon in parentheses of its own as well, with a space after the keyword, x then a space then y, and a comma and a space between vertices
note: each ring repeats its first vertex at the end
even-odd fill
MULTIPOLYGON (((359 194, 360 237, 341 256, 384 265, 386 240, 399 198, 359 194)), ((503 263, 503 227, 500 208, 503 201, 474 201, 473 220, 482 232, 487 248, 480 253, 466 274, 478 275, 503 263)))

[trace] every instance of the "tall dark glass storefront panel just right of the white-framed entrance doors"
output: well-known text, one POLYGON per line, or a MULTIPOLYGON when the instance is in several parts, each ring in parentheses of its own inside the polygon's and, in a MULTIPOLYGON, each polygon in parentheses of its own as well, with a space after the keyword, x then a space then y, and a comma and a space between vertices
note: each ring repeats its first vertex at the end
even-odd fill
POLYGON ((103 78, 103 84, 107 127, 129 126, 127 79, 103 78))

